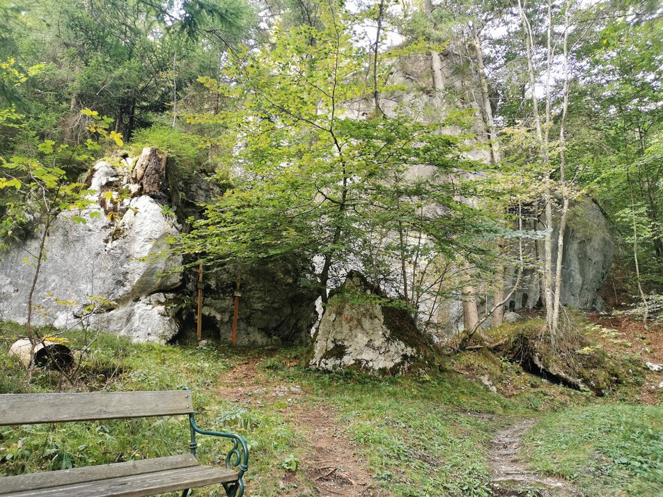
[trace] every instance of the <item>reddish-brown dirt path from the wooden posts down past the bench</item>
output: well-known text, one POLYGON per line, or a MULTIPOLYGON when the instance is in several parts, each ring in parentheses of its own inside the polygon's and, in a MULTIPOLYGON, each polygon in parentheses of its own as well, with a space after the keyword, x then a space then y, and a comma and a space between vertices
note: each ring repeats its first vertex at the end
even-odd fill
MULTIPOLYGON (((336 414, 327 406, 313 406, 299 385, 288 385, 267 377, 258 370, 261 359, 245 361, 219 378, 217 391, 226 399, 260 407, 275 400, 287 400, 283 414, 297 431, 304 434, 307 445, 299 467, 306 482, 297 473, 283 475, 283 490, 288 484, 314 487, 318 497, 357 496, 389 497, 380 489, 366 466, 354 453, 354 445, 336 423, 336 414)), ((281 494, 290 496, 285 491, 281 494)), ((297 494, 299 495, 299 491, 297 494)))

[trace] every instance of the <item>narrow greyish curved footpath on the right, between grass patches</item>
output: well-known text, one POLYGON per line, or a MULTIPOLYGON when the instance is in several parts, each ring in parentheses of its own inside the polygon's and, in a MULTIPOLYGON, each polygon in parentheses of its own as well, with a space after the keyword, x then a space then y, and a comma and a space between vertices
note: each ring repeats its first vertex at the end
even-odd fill
POLYGON ((517 420, 501 429, 490 446, 492 489, 497 496, 523 496, 538 491, 540 496, 570 497, 573 494, 568 483, 556 478, 540 476, 529 471, 520 458, 522 439, 536 424, 536 420, 517 420), (529 491, 529 492, 528 492, 529 491))

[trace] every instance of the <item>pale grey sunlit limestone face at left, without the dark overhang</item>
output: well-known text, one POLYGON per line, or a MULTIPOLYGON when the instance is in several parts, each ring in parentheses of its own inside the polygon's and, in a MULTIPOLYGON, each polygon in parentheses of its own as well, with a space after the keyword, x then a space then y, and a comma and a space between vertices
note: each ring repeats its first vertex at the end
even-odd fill
MULTIPOLYGON (((127 161, 100 161, 91 188, 100 193, 118 190, 129 168, 127 161)), ((119 200, 113 207, 107 200, 99 196, 100 205, 82 214, 86 223, 72 221, 70 213, 54 221, 36 287, 33 322, 80 327, 84 308, 93 303, 95 313, 84 318, 91 328, 136 341, 165 342, 178 326, 164 292, 180 285, 181 274, 169 271, 178 268, 182 258, 146 258, 164 248, 178 226, 148 195, 119 200), (99 215, 91 219, 93 212, 99 215)), ((25 322, 34 268, 24 258, 28 251, 37 253, 38 238, 30 237, 0 254, 0 319, 25 322)))

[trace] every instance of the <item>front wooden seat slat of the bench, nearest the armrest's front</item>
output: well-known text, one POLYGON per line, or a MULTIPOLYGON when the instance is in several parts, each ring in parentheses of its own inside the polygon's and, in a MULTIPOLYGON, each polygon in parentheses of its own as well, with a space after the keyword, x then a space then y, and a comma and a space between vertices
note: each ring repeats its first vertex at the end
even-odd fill
POLYGON ((235 471, 195 466, 8 495, 11 497, 143 497, 236 480, 235 471))

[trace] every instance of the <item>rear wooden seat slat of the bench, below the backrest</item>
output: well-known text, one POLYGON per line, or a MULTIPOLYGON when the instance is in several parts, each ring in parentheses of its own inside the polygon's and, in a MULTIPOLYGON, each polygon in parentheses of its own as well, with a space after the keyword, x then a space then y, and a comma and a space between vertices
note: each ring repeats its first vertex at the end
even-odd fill
POLYGON ((158 459, 142 459, 115 464, 102 464, 100 466, 86 466, 84 468, 6 476, 0 480, 0 496, 6 496, 6 494, 13 494, 19 491, 60 487, 61 485, 108 480, 109 478, 141 475, 143 473, 154 473, 155 471, 166 471, 169 469, 190 468, 192 466, 198 466, 198 461, 191 454, 185 454, 159 457, 158 459))

